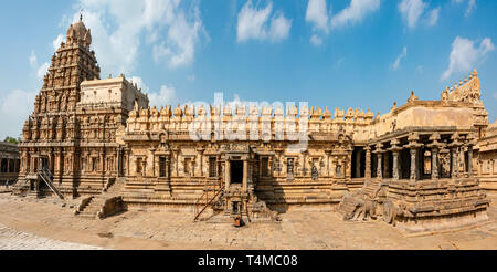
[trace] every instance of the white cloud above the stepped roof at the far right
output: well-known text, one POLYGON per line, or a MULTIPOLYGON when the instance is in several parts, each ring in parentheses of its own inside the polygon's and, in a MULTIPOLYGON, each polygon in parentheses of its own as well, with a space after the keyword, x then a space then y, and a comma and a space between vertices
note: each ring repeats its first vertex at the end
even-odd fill
POLYGON ((479 43, 479 46, 475 46, 475 41, 457 36, 452 43, 448 67, 442 74, 441 80, 448 80, 453 73, 470 71, 477 62, 482 61, 488 52, 494 50, 495 45, 489 38, 485 38, 479 43))

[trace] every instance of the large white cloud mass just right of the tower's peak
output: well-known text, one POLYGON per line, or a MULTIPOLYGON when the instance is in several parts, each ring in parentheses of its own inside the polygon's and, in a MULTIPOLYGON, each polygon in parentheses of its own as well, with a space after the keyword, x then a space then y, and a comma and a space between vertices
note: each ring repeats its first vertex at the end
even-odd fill
MULTIPOLYGON (((154 49, 157 63, 166 63, 171 69, 191 64, 195 48, 204 41, 203 38, 209 38, 198 3, 187 10, 180 7, 180 2, 80 0, 84 23, 92 30, 93 46, 103 72, 133 72, 142 40, 154 49)), ((77 20, 78 12, 71 22, 77 20)))

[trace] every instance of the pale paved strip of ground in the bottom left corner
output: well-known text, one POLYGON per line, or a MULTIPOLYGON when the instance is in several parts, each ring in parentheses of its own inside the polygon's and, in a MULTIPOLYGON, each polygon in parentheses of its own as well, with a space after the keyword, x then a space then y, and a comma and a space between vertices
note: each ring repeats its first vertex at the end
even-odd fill
POLYGON ((62 242, 13 230, 0 224, 0 250, 98 250, 86 244, 62 242))

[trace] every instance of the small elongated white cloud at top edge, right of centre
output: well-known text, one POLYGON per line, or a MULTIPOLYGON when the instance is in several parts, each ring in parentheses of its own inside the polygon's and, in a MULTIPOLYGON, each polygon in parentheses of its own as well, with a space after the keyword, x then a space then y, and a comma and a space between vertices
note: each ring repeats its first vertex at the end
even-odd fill
POLYGON ((331 18, 331 28, 341 28, 362 20, 380 8, 380 0, 351 0, 350 4, 331 18))

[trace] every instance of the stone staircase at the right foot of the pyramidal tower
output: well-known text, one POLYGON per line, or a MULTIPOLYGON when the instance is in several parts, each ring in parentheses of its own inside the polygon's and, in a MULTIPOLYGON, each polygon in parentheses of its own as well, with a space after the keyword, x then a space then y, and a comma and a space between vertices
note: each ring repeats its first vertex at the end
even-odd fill
POLYGON ((104 207, 105 202, 108 199, 113 199, 119 197, 121 195, 121 190, 125 187, 125 179, 118 178, 116 181, 107 189, 107 191, 89 197, 87 199, 83 199, 78 209, 76 210, 76 215, 82 218, 88 219, 97 219, 98 212, 104 207), (86 200, 86 201, 85 201, 86 200))

